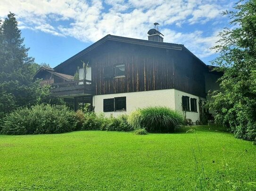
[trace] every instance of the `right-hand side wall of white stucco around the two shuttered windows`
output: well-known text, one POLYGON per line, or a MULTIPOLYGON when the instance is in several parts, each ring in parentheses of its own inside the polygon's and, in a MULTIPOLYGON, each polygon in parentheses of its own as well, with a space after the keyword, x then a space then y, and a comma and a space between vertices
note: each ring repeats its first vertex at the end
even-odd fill
MULTIPOLYGON (((192 122, 196 122, 197 120, 200 121, 199 116, 199 98, 198 96, 192 95, 190 93, 181 92, 179 90, 174 90, 174 96, 175 96, 175 109, 182 111, 182 96, 189 96, 190 98, 197 99, 197 110, 198 112, 186 112, 186 118, 191 119, 192 122)), ((191 109, 191 106, 190 106, 191 109)))

